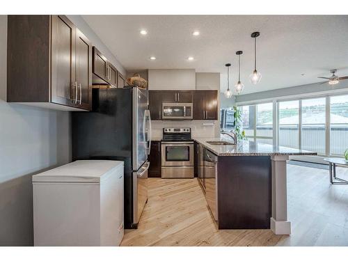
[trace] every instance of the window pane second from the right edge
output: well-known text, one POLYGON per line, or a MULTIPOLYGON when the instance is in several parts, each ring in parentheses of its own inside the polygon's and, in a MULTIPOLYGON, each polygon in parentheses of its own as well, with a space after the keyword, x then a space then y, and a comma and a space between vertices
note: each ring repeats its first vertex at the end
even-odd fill
POLYGON ((302 100, 301 149, 325 154, 326 98, 302 100))

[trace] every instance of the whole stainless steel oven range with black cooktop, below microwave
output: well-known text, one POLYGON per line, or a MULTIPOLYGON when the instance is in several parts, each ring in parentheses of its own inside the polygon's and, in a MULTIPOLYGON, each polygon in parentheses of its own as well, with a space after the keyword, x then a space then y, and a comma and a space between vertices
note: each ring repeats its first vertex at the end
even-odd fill
POLYGON ((162 178, 193 178, 191 128, 163 129, 161 159, 162 178))

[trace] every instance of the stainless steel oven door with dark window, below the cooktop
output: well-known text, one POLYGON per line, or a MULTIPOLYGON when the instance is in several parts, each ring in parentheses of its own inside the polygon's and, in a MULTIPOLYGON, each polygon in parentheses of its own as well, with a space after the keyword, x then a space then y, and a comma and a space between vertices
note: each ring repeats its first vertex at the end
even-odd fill
POLYGON ((193 166, 193 141, 161 142, 162 166, 193 166))

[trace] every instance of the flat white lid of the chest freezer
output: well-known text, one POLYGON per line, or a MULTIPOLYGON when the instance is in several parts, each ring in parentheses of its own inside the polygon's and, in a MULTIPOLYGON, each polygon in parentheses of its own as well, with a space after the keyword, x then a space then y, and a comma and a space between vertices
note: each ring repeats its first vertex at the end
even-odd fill
POLYGON ((33 175, 33 182, 98 183, 115 168, 123 168, 123 161, 79 160, 33 175))

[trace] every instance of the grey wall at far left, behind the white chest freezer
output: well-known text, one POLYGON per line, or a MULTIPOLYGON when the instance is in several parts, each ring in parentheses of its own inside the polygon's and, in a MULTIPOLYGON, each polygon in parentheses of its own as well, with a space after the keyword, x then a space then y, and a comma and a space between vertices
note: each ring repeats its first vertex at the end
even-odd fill
POLYGON ((31 175, 70 161, 70 113, 5 102, 6 40, 0 15, 0 246, 31 246, 31 175))

